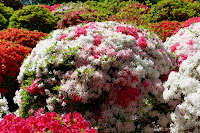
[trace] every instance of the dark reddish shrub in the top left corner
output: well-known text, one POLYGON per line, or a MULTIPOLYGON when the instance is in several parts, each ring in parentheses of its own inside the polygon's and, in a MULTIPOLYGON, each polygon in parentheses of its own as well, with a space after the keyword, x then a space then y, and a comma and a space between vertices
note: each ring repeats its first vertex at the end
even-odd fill
POLYGON ((23 7, 21 0, 0 0, 0 2, 14 10, 19 10, 23 7))

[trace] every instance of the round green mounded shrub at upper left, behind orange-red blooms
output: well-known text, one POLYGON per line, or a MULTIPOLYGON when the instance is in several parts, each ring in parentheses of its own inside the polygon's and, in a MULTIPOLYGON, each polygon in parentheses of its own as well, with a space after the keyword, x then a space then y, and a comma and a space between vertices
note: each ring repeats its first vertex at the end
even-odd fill
POLYGON ((42 5, 28 5, 14 12, 9 27, 49 33, 56 29, 57 17, 42 5))

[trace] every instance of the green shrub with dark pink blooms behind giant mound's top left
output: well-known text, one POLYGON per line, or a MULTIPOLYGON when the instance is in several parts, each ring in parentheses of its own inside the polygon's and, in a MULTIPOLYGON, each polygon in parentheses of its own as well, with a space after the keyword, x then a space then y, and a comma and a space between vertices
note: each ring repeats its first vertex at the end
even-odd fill
POLYGON ((70 13, 62 16, 62 19, 58 22, 58 28, 66 28, 69 26, 77 25, 80 23, 88 23, 94 21, 105 21, 106 15, 101 14, 98 10, 92 10, 89 8, 82 8, 77 10, 73 10, 70 13))

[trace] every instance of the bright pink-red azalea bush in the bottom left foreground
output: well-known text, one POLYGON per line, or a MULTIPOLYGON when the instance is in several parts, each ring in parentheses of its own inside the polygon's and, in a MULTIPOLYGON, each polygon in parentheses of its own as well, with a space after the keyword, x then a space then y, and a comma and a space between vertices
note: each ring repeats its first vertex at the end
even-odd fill
POLYGON ((31 110, 33 116, 27 119, 13 114, 6 115, 0 121, 0 133, 97 133, 96 129, 89 129, 89 124, 80 113, 68 113, 61 117, 55 112, 41 114, 42 112, 43 109, 38 109, 36 113, 31 110))

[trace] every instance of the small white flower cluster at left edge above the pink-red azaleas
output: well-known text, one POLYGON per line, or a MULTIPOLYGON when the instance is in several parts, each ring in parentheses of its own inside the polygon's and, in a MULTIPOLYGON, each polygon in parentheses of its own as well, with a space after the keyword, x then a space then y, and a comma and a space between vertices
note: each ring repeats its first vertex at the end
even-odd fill
POLYGON ((3 97, 2 99, 1 93, 0 93, 0 120, 2 120, 2 118, 8 114, 9 114, 8 102, 5 97, 3 97))

